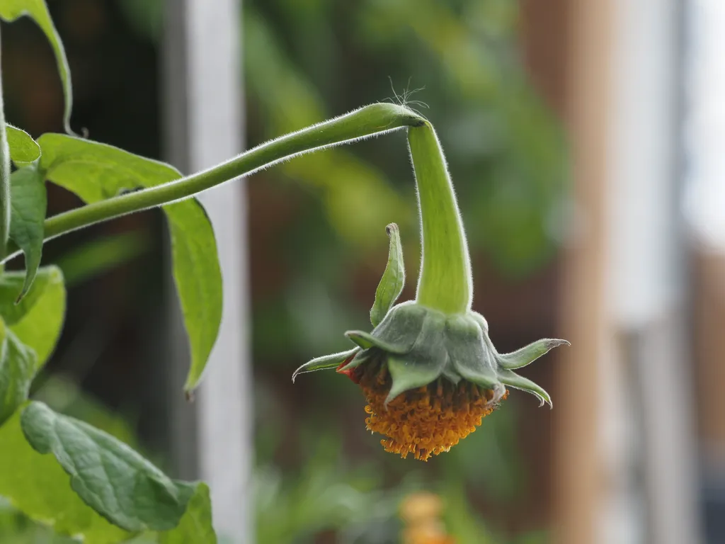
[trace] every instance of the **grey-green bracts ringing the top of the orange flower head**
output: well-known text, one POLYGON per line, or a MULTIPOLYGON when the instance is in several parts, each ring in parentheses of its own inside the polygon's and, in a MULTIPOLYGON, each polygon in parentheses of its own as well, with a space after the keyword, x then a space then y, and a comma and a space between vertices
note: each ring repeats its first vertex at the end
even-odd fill
MULTIPOLYGON (((399 242, 396 246, 399 247, 399 242)), ((402 267, 402 255, 397 263, 402 267)), ((394 281, 384 276, 381 284, 386 280, 394 281)), ((446 314, 418 302, 402 302, 390 308, 370 333, 347 331, 345 335, 357 347, 313 359, 299 367, 293 379, 298 374, 323 368, 337 367, 347 373, 368 361, 382 359, 392 378, 386 402, 443 377, 452 384, 465 379, 494 391, 494 403, 501 399, 506 387, 513 387, 535 395, 542 405, 544 402, 551 405, 551 397, 542 387, 515 374, 513 369, 526 366, 553 347, 568 342, 544 338, 513 353, 500 354, 489 339, 488 330, 484 316, 473 310, 446 314)))

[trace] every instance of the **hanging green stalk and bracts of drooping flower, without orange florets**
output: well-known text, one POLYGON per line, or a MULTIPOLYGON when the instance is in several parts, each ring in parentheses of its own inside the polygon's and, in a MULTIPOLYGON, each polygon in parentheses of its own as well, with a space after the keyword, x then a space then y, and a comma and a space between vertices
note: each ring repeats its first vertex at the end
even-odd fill
MULTIPOLYGON (((544 338, 513 353, 497 352, 486 319, 471 309, 468 244, 443 149, 432 125, 426 122, 408 128, 408 144, 422 231, 416 300, 394 305, 402 292, 405 270, 397 226, 389 225, 388 263, 370 310, 373 331, 348 331, 346 336, 357 347, 313 359, 299 367, 292 379, 304 372, 337 367, 358 382, 370 363, 372 372, 382 373, 379 384, 387 387, 389 380, 385 406, 401 393, 425 387, 439 378, 456 387, 462 380, 481 387, 489 392, 489 406, 497 405, 506 387, 529 392, 542 405, 552 405, 542 387, 515 374, 513 369, 568 342, 544 338)), ((370 387, 366 394, 369 392, 370 387)), ((440 449, 445 450, 445 446, 440 449)), ((423 458, 427 455, 423 453, 423 458)))

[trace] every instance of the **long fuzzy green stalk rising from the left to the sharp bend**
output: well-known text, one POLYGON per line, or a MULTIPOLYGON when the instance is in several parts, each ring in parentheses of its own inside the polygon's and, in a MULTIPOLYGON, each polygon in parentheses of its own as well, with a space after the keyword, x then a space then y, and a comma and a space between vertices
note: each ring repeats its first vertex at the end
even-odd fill
MULTIPOLYGON (((234 178, 248 176, 301 154, 378 136, 400 128, 421 126, 423 123, 426 120, 407 107, 386 103, 370 104, 324 123, 268 141, 191 176, 54 215, 45 221, 44 239, 48 241, 101 221, 193 197, 234 178)), ((12 244, 9 255, 2 262, 19 253, 12 244)))

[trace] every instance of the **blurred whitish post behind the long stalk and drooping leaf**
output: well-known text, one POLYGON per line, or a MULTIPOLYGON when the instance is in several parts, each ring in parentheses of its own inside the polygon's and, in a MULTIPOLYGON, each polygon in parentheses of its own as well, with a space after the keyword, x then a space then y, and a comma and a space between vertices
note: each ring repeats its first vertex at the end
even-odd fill
MULTIPOLYGON (((243 148, 239 0, 167 0, 165 61, 170 152, 188 171, 243 148)), ((202 194, 224 280, 220 335, 197 395, 195 417, 173 411, 173 448, 196 448, 181 471, 209 483, 214 524, 233 543, 252 539, 252 393, 249 371, 247 210, 241 180, 202 194), (184 429, 194 426, 196 444, 184 429), (184 436, 186 435, 186 436, 184 436), (189 466, 190 463, 196 466, 189 466)), ((172 403, 173 405, 174 403, 172 403)), ((173 408, 172 408, 173 410, 173 408)))

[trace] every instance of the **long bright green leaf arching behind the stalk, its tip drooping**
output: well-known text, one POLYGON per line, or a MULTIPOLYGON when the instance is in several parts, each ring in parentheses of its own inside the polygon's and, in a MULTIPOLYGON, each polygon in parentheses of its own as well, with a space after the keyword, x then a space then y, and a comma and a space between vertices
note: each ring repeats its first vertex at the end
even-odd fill
MULTIPOLYGON (((46 178, 86 202, 114 197, 123 189, 151 187, 181 177, 169 165, 94 141, 43 134, 41 169, 46 178)), ((195 199, 163 207, 169 221, 173 273, 191 345, 185 389, 199 383, 222 315, 222 276, 212 225, 195 199)))

